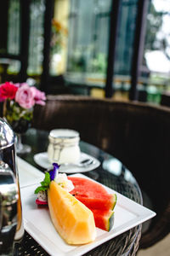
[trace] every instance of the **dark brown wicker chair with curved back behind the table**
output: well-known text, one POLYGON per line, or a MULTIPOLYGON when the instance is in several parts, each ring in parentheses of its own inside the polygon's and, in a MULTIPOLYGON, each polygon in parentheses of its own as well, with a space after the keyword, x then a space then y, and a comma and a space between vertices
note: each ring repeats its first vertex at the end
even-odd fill
POLYGON ((150 247, 167 236, 170 109, 84 96, 48 96, 46 106, 35 108, 33 126, 47 131, 75 129, 82 140, 122 160, 144 192, 144 205, 156 212, 142 234, 140 247, 150 247))

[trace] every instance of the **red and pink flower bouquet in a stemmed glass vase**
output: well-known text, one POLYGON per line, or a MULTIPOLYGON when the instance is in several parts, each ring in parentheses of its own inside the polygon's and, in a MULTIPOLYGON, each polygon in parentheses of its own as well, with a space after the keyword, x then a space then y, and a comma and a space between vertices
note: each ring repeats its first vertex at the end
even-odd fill
POLYGON ((3 118, 8 121, 18 136, 17 153, 25 154, 31 151, 28 145, 21 143, 21 134, 31 126, 33 107, 35 104, 45 105, 44 92, 26 83, 0 84, 0 101, 3 102, 3 118))

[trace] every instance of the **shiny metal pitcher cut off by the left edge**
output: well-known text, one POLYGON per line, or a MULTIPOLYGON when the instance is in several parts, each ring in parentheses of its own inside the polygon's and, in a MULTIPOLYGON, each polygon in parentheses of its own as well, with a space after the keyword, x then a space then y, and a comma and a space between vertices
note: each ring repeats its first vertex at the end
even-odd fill
POLYGON ((24 236, 14 131, 0 118, 0 255, 24 236))

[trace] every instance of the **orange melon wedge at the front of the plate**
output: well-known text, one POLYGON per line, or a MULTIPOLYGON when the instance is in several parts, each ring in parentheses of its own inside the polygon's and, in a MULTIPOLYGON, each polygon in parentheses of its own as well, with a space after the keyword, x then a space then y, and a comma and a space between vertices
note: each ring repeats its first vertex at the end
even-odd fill
POLYGON ((67 243, 94 241, 96 230, 93 212, 54 181, 48 189, 48 207, 55 229, 67 243))

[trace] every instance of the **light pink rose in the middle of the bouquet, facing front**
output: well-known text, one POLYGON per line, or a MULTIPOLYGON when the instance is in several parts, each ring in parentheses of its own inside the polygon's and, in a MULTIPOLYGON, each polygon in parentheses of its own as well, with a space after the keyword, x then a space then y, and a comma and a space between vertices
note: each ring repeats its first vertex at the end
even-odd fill
POLYGON ((22 108, 32 108, 35 105, 34 92, 28 84, 19 87, 15 95, 15 102, 20 104, 22 108))

